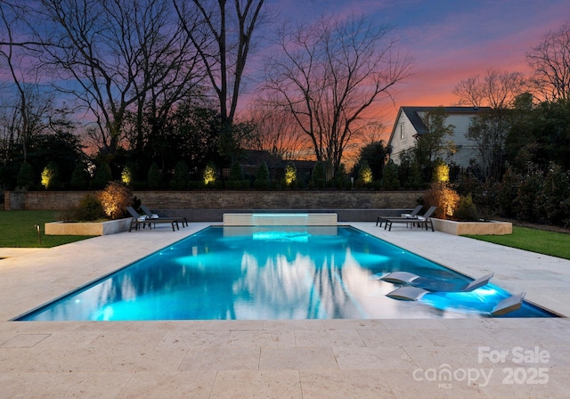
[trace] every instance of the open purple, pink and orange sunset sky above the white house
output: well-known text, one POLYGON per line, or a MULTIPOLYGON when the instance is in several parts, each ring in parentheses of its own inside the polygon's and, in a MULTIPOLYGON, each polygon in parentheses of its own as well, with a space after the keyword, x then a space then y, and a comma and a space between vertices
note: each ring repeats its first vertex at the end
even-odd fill
MULTIPOLYGON (((394 26, 402 51, 414 59, 414 75, 385 104, 391 129, 406 105, 453 105, 460 80, 485 69, 528 72, 525 53, 543 35, 570 20, 568 0, 270 0, 280 20, 310 20, 322 12, 372 14, 394 26)), ((389 133, 389 132, 388 132, 389 133)))

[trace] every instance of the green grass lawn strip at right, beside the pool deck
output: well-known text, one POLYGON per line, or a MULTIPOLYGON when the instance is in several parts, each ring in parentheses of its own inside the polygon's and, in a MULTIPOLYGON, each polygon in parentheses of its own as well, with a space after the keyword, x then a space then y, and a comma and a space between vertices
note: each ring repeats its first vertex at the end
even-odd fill
POLYGON ((466 237, 570 259, 570 234, 565 232, 547 232, 513 226, 513 233, 508 235, 468 235, 466 237))

